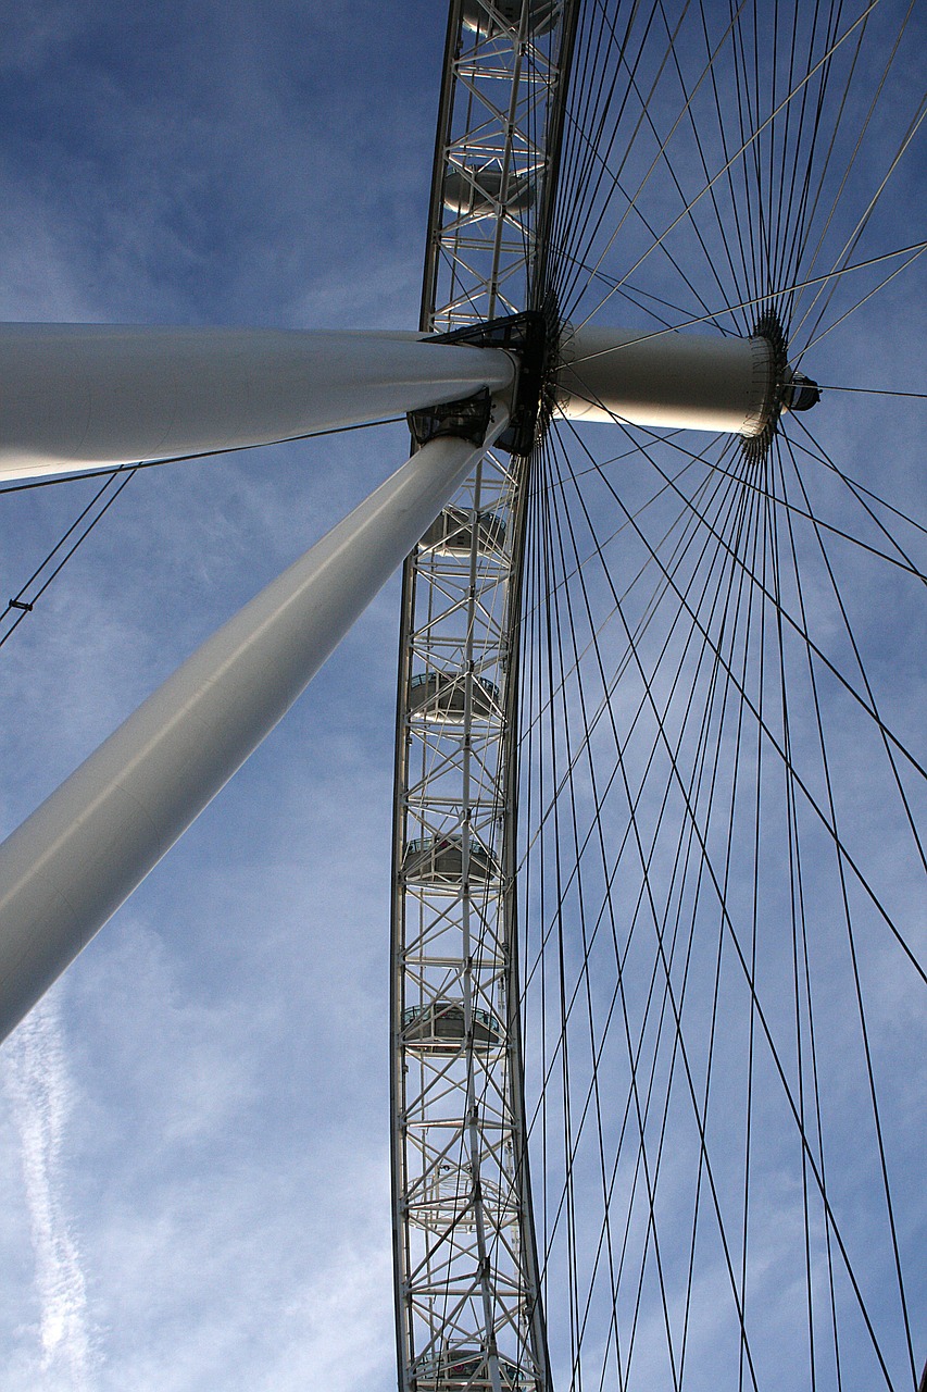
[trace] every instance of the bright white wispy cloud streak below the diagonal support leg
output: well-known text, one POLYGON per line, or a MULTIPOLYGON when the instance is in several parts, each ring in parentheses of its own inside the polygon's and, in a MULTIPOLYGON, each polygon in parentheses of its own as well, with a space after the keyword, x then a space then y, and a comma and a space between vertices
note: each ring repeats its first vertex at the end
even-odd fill
POLYGON ((43 1385, 89 1392, 97 1357, 81 1251, 68 1219, 61 1175, 71 1082, 57 992, 50 992, 10 1040, 4 1050, 3 1083, 21 1143, 35 1251, 43 1385))

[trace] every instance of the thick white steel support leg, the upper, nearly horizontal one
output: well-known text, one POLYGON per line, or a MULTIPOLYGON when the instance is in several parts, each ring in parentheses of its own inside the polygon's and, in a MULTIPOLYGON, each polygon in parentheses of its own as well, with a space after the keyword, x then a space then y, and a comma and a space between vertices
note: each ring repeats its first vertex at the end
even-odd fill
POLYGON ((504 391, 498 349, 416 334, 0 326, 0 477, 237 450, 504 391))

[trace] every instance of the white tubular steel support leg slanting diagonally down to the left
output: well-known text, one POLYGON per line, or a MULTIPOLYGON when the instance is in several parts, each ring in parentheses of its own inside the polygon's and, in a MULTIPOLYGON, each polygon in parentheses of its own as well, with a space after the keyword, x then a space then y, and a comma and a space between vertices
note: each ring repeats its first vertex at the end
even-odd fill
POLYGON ((180 667, 0 846, 0 1040, 285 714, 508 423, 426 444, 180 667))

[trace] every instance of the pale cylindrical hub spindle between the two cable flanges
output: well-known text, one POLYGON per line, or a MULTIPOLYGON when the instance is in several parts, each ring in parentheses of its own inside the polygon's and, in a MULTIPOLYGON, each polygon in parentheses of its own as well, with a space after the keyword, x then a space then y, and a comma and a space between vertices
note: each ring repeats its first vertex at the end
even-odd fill
POLYGON ((557 404, 569 420, 759 436, 777 404, 766 338, 565 329, 557 404))

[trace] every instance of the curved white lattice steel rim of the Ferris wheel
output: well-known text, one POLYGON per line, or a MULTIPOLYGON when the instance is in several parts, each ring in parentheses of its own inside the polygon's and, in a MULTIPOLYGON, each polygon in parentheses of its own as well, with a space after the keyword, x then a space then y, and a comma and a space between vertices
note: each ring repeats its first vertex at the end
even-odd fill
MULTIPOLYGON (((426 333, 529 308, 543 280, 575 11, 451 4, 426 333)), ((548 1386, 508 777, 526 476, 526 459, 486 454, 404 572, 393 1172, 399 1386, 418 1392, 548 1386)))

